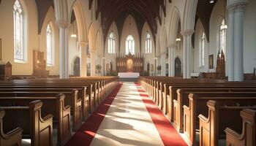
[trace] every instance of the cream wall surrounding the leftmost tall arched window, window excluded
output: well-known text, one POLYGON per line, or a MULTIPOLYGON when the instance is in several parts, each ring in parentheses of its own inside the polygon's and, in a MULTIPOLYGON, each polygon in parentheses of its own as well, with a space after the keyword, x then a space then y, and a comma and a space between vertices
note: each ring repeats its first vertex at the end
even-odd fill
POLYGON ((38 49, 37 37, 37 5, 34 0, 23 1, 23 10, 26 11, 26 49, 27 62, 19 64, 14 62, 14 31, 13 31, 13 4, 14 0, 2 0, 0 4, 0 38, 1 64, 8 61, 12 64, 12 74, 30 75, 33 72, 33 50, 38 49))

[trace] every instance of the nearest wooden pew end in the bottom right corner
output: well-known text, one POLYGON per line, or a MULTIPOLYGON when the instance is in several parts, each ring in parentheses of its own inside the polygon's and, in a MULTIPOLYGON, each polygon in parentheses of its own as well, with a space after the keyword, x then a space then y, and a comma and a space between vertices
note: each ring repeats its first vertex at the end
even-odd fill
POLYGON ((255 146, 256 145, 256 110, 243 110, 240 113, 243 119, 242 132, 238 134, 231 128, 226 128, 227 134, 226 142, 227 145, 233 146, 255 146))

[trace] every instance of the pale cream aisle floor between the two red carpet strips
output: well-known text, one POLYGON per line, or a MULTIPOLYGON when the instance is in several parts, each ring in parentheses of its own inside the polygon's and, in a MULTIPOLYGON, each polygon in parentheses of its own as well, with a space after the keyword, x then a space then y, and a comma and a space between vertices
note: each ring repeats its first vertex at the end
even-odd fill
POLYGON ((91 142, 99 145, 164 145, 133 82, 124 82, 91 142))

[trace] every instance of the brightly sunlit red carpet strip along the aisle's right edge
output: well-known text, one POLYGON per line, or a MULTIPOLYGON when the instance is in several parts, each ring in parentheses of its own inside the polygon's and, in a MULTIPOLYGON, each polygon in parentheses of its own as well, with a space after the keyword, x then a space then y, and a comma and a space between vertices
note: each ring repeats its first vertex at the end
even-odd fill
POLYGON ((148 98, 148 95, 145 93, 143 88, 138 83, 135 83, 137 86, 137 90, 140 93, 141 98, 143 99, 144 104, 146 105, 146 109, 153 120, 154 125, 157 128, 157 131, 162 139, 162 142, 171 146, 183 146, 187 145, 186 142, 181 138, 175 128, 170 125, 170 122, 165 118, 162 111, 159 110, 157 105, 148 98))

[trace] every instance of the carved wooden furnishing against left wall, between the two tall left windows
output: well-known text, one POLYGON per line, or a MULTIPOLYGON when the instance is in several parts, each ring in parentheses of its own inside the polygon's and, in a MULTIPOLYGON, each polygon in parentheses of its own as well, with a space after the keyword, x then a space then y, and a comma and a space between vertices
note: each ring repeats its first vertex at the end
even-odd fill
POLYGON ((35 77, 48 77, 49 71, 46 70, 46 62, 44 53, 33 50, 33 75, 35 77))

